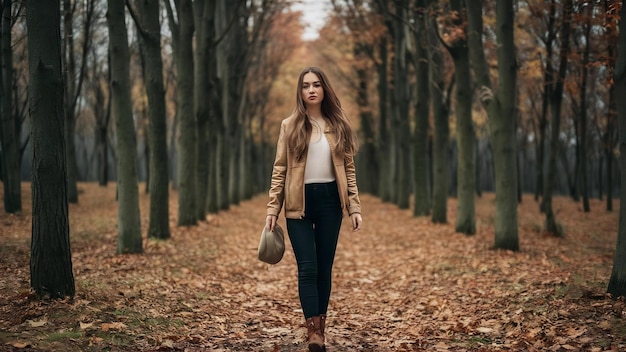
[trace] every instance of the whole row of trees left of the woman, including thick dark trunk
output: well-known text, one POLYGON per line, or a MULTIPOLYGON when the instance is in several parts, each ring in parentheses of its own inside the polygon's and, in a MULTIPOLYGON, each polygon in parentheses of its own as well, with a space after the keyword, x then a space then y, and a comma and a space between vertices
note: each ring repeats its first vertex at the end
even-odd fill
POLYGON ((248 165, 260 165, 253 161, 263 157, 253 148, 265 128, 263 92, 300 35, 298 17, 287 10, 282 0, 4 1, 5 210, 21 210, 19 161, 28 144, 31 281, 37 294, 74 294, 68 202, 78 201, 75 143, 81 122, 91 120, 97 136, 103 185, 109 140, 114 144, 118 253, 143 250, 138 135, 148 155, 150 238, 170 236, 172 150, 179 226, 194 225, 207 212, 227 209, 262 188, 252 182, 255 169, 248 165), (25 52, 28 60, 10 61, 25 52), (13 107, 23 101, 27 122, 20 120, 25 109, 13 107), (20 139, 22 127, 29 129, 26 140, 20 139))

